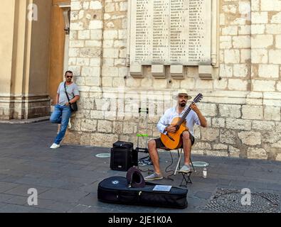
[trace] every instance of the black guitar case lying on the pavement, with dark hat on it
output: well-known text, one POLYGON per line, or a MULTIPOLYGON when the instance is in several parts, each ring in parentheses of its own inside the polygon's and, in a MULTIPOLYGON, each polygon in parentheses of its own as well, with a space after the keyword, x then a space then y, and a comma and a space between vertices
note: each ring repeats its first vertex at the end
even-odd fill
POLYGON ((106 203, 158 206, 184 209, 187 189, 171 187, 169 192, 154 191, 156 185, 144 182, 139 170, 131 168, 127 177, 109 177, 98 184, 97 199, 106 203))

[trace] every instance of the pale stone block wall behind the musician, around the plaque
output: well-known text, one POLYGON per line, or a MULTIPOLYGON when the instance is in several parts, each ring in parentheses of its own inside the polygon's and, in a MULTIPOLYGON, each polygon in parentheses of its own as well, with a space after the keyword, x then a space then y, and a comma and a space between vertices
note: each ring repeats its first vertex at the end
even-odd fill
POLYGON ((155 79, 151 67, 144 78, 129 74, 127 1, 72 0, 69 65, 81 100, 64 143, 136 145, 138 108, 147 106, 149 137, 157 137, 159 117, 184 88, 203 94, 198 106, 208 120, 208 128, 196 128, 193 153, 281 160, 280 7, 277 0, 220 1, 213 79, 200 79, 198 67, 185 67, 183 79, 155 79))

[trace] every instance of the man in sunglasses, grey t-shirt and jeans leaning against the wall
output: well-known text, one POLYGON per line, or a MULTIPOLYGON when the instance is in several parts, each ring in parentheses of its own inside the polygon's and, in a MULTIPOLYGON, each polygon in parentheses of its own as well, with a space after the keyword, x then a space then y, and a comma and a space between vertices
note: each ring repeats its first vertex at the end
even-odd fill
POLYGON ((65 82, 61 82, 58 86, 58 92, 55 99, 55 110, 51 115, 51 123, 60 123, 60 131, 55 138, 51 149, 56 149, 60 147, 60 142, 65 136, 66 129, 68 128, 68 122, 71 116, 70 104, 75 103, 80 99, 78 86, 72 82, 73 72, 65 72, 65 82), (68 96, 65 93, 68 92, 68 96), (68 101, 68 97, 70 101, 68 101))

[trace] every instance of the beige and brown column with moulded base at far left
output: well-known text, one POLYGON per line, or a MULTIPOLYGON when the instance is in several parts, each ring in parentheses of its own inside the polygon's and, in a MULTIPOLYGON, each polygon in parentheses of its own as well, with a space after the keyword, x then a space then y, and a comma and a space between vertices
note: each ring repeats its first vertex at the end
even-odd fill
POLYGON ((49 1, 1 1, 1 119, 27 119, 49 114, 50 17, 49 1), (28 20, 32 15, 34 20, 28 20))

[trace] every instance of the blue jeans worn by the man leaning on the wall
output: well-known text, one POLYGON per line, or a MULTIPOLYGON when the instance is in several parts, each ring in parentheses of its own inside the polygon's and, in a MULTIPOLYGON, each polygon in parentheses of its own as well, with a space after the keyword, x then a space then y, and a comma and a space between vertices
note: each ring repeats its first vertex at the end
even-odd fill
POLYGON ((60 106, 55 105, 55 110, 51 115, 50 121, 51 123, 60 123, 60 132, 55 138, 55 144, 60 144, 61 140, 65 136, 66 129, 68 128, 68 121, 71 116, 70 106, 60 106))

